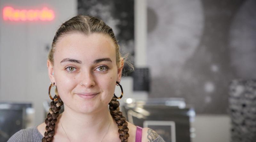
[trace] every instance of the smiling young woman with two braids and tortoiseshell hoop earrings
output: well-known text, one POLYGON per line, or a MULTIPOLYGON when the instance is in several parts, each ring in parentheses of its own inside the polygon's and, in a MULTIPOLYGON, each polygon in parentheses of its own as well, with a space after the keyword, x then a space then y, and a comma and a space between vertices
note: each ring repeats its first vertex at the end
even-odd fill
POLYGON ((49 53, 50 112, 35 128, 20 130, 8 142, 163 142, 155 131, 137 127, 119 111, 124 58, 112 29, 90 16, 60 26, 49 53), (51 87, 56 86, 52 98, 51 87), (109 110, 108 110, 109 104, 109 110), (64 112, 59 114, 60 106, 64 112))

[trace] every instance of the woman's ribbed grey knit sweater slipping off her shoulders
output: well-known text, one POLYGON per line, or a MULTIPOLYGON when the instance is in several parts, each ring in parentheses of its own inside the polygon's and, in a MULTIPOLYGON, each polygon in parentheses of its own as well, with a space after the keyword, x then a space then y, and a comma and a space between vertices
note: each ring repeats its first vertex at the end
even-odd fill
MULTIPOLYGON (((41 133, 34 127, 16 132, 7 142, 42 142, 42 138, 41 133)), ((164 142, 164 139, 158 136, 152 142, 164 142)))

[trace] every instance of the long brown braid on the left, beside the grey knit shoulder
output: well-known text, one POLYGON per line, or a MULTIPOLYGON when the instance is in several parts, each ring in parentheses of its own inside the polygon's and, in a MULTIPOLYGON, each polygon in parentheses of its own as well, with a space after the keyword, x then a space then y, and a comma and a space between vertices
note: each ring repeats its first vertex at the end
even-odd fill
MULTIPOLYGON (((55 95, 54 99, 57 98, 55 95)), ((42 142, 51 142, 53 139, 53 135, 55 133, 55 123, 57 118, 59 117, 60 106, 63 104, 61 99, 59 98, 57 101, 51 102, 51 108, 49 109, 49 113, 47 114, 47 118, 44 120, 46 124, 46 131, 44 132, 44 138, 42 138, 42 142)))

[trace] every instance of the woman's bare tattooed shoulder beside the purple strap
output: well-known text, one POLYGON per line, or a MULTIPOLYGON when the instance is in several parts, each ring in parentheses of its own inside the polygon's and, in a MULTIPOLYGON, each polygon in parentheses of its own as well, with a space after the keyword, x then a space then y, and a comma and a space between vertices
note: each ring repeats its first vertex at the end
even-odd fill
POLYGON ((161 138, 156 131, 150 128, 142 129, 142 142, 164 142, 164 139, 161 138))

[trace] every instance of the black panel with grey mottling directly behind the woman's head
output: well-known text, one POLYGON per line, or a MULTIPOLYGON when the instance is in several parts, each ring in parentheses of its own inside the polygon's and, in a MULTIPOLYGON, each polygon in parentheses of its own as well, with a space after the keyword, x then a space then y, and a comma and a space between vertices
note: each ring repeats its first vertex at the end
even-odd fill
MULTIPOLYGON (((129 54, 134 60, 134 0, 78 0, 78 14, 95 16, 112 27, 121 53, 129 54)), ((124 65, 123 72, 130 75, 130 68, 124 65)))

